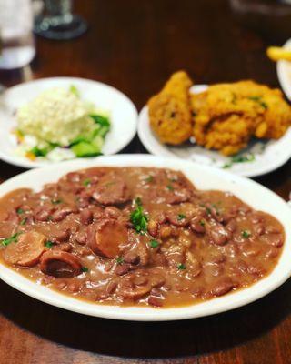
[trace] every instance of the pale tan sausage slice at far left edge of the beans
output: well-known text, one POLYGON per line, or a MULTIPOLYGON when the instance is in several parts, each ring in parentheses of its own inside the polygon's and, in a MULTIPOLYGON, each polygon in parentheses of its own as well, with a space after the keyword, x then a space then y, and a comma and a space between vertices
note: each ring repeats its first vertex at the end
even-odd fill
POLYGON ((45 252, 45 235, 36 231, 21 234, 17 242, 10 243, 4 251, 8 264, 33 267, 45 252))

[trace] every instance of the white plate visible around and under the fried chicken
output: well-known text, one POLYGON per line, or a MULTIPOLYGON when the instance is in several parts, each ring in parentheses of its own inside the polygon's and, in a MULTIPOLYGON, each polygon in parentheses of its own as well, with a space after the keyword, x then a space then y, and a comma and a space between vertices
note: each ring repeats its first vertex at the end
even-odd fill
MULTIPOLYGON (((196 85, 191 88, 191 92, 198 94, 206 88, 206 85, 196 85)), ((178 157, 220 169, 230 161, 229 157, 190 142, 178 147, 162 144, 150 127, 147 106, 144 106, 139 114, 137 133, 146 149, 156 156, 178 157)), ((253 154, 255 160, 235 163, 228 167, 227 171, 240 176, 256 177, 281 167, 291 157, 291 127, 279 140, 251 141, 242 154, 253 154)))

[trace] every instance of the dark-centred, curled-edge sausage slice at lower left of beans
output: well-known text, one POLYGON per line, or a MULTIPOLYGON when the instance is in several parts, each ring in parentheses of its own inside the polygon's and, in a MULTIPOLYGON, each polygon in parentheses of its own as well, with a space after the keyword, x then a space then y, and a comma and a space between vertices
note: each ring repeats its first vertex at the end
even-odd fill
POLYGON ((81 273, 81 267, 79 258, 59 250, 45 252, 40 261, 41 271, 56 278, 75 277, 81 273))

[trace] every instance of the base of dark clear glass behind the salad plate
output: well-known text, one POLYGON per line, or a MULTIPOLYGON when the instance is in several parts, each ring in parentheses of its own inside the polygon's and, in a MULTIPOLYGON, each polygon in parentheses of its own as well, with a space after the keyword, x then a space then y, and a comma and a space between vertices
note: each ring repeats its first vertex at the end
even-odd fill
POLYGON ((85 33, 85 20, 80 15, 72 14, 72 8, 72 0, 45 0, 43 13, 35 19, 35 34, 65 40, 85 33))

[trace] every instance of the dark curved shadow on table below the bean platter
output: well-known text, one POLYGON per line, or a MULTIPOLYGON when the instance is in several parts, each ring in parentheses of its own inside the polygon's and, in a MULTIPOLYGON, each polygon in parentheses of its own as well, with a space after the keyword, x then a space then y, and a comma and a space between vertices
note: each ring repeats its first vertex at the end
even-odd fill
POLYGON ((95 319, 28 298, 3 282, 0 289, 1 313, 22 329, 73 349, 127 358, 170 358, 227 349, 265 334, 291 311, 291 280, 244 308, 204 319, 157 323, 95 319))

